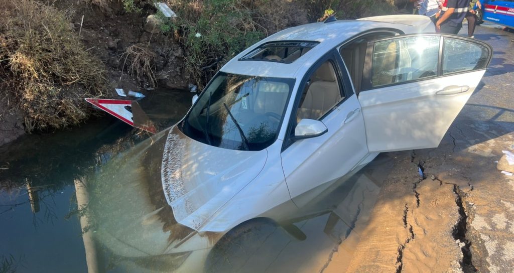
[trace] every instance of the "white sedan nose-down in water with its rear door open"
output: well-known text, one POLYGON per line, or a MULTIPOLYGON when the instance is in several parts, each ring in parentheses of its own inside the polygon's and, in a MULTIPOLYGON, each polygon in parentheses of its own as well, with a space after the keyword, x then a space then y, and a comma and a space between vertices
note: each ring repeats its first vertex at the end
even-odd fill
POLYGON ((293 218, 313 199, 380 152, 437 147, 480 82, 491 47, 412 34, 433 31, 417 15, 315 23, 238 54, 181 121, 100 172, 99 241, 190 271, 248 223, 302 240, 293 218))

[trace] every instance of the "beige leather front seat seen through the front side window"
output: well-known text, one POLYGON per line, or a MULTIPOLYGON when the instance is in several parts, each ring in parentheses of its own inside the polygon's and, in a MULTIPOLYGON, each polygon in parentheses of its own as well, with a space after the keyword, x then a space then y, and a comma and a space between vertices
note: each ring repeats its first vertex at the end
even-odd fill
POLYGON ((302 118, 319 119, 342 99, 332 63, 322 64, 311 77, 311 81, 313 82, 298 110, 298 122, 302 118))

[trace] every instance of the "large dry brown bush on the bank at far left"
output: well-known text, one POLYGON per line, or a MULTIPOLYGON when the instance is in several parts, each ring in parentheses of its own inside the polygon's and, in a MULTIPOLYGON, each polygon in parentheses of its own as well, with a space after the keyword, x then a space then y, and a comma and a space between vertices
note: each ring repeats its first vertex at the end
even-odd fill
POLYGON ((69 12, 34 0, 0 0, 0 94, 19 107, 27 131, 88 117, 83 98, 105 88, 103 64, 86 52, 69 12))

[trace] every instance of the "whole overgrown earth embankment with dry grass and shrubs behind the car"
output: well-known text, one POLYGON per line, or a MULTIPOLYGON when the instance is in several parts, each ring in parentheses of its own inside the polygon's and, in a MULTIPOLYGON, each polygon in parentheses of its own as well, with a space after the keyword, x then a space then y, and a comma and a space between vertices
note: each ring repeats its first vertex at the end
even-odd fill
MULTIPOLYGON (((393 0, 166 2, 0 0, 0 145, 21 132, 84 122, 85 97, 114 87, 203 87, 236 53, 278 30, 315 22, 391 14, 393 0)), ((398 3, 396 3, 398 2, 398 3)))

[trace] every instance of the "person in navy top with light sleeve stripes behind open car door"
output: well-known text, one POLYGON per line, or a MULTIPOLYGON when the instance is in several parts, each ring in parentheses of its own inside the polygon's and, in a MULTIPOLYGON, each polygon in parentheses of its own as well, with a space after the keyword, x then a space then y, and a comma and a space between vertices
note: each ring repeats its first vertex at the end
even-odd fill
POLYGON ((435 23, 438 32, 457 34, 462 28, 462 21, 469 9, 470 0, 446 0, 446 11, 443 9, 435 23))

